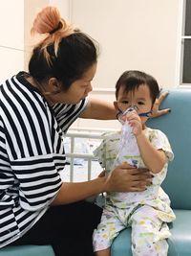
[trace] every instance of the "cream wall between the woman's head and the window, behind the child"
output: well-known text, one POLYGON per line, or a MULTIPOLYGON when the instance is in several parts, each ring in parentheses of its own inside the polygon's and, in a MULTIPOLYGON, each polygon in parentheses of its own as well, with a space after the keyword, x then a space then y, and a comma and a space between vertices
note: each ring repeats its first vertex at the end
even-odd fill
MULTIPOLYGON (((139 69, 162 88, 175 87, 180 0, 71 0, 74 25, 100 44, 93 96, 115 99, 120 74, 139 69)), ((78 120, 77 126, 116 127, 116 122, 78 120)))

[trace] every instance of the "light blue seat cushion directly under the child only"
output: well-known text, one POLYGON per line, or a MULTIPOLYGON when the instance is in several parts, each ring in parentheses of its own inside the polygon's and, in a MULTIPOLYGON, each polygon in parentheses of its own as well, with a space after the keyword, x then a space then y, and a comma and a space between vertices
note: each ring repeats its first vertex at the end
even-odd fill
MULTIPOLYGON (((191 210, 174 210, 176 221, 170 223, 172 237, 168 239, 168 256, 191 255, 191 210)), ((131 228, 120 232, 112 244, 112 256, 132 256, 131 228)))

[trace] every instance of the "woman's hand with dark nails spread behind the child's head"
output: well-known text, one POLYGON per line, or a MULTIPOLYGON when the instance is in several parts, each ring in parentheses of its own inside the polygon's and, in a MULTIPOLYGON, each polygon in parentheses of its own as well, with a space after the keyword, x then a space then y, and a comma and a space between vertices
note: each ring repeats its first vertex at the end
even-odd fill
POLYGON ((149 116, 150 118, 159 117, 161 115, 168 114, 171 111, 170 108, 165 108, 165 109, 159 110, 159 105, 161 104, 161 102, 163 102, 163 100, 166 98, 167 95, 168 95, 167 91, 163 92, 159 95, 159 98, 155 101, 155 103, 153 105, 152 113, 149 116))

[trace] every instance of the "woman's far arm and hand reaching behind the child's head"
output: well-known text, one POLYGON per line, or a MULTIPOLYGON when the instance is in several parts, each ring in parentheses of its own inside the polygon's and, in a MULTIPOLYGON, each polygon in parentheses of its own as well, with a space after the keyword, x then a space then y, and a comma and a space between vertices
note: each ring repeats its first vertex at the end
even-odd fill
MULTIPOLYGON (((151 118, 158 117, 170 112, 169 108, 159 109, 159 105, 166 98, 168 92, 163 92, 159 99, 156 100, 153 105, 151 118)), ((100 120, 112 120, 117 118, 117 109, 115 105, 104 100, 98 100, 91 98, 84 111, 80 114, 81 118, 91 118, 100 120)))

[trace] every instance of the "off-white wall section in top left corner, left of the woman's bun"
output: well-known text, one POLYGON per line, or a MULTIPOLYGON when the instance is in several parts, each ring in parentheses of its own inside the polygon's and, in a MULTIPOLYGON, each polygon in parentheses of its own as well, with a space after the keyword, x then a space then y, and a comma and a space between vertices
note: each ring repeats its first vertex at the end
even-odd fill
POLYGON ((24 68, 24 0, 1 1, 0 82, 24 68))

